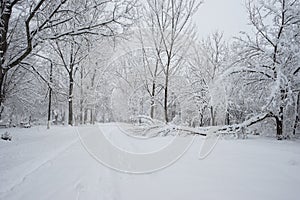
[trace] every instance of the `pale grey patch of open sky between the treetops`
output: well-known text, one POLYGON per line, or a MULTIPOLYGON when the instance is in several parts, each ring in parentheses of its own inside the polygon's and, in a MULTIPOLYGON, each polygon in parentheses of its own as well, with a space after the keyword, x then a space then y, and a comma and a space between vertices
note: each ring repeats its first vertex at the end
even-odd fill
POLYGON ((244 5, 244 0, 205 0, 194 16, 200 38, 215 30, 223 31, 226 39, 248 31, 244 5))

